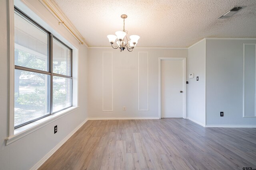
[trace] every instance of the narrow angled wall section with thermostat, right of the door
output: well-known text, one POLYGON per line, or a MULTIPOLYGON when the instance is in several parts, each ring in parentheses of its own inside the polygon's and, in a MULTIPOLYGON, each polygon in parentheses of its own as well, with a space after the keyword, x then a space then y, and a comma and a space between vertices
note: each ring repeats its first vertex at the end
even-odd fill
POLYGON ((194 78, 188 78, 187 85, 187 117, 205 125, 205 39, 188 49, 188 74, 194 73, 194 78), (196 81, 196 77, 198 81, 196 81))

